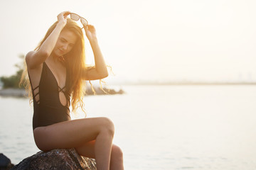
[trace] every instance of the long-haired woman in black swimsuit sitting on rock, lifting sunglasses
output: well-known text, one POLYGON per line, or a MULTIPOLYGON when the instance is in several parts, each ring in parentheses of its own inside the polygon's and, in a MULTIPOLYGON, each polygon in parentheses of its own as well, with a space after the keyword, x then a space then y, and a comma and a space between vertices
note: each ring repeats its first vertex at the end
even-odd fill
POLYGON ((95 28, 85 18, 68 11, 58 15, 35 51, 26 55, 33 96, 33 136, 42 151, 74 147, 78 154, 96 159, 97 169, 124 169, 122 151, 112 145, 114 125, 108 118, 70 120, 70 96, 73 111, 83 106, 83 80, 108 76, 97 43, 95 28), (70 19, 68 15, 71 16, 70 19), (85 66, 81 19, 95 57, 95 67, 85 66), (75 20, 75 21, 74 21, 75 20))

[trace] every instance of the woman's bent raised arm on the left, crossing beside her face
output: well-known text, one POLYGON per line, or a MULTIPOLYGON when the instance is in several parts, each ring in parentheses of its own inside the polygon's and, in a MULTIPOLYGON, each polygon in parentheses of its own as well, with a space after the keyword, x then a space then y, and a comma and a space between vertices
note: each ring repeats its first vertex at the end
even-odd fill
POLYGON ((38 67, 39 64, 43 63, 47 57, 50 56, 50 53, 53 51, 53 48, 56 45, 61 30, 63 30, 65 24, 67 23, 69 13, 69 11, 65 11, 58 14, 58 23, 53 32, 50 33, 48 38, 46 38, 37 51, 28 52, 26 55, 26 64, 29 69, 38 67))

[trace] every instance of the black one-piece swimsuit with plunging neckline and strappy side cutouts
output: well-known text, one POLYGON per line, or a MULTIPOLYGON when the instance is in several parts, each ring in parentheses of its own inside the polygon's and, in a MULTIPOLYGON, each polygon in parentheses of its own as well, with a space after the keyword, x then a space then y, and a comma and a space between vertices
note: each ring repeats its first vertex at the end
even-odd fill
MULTIPOLYGON (((68 69, 66 75, 68 75, 68 69)), ((29 80, 31 82, 30 77, 29 80)), ((66 76, 65 86, 63 88, 60 88, 48 65, 46 64, 46 62, 43 62, 43 69, 39 85, 36 86, 36 88, 33 88, 31 84, 31 87, 33 94, 34 111, 33 130, 37 127, 52 125, 54 123, 60 123, 70 120, 70 92, 68 89, 68 76, 66 76), (36 89, 38 89, 38 93, 34 94, 36 89), (60 103, 60 91, 62 91, 65 95, 67 101, 66 106, 63 106, 60 103), (39 95, 38 101, 36 101, 37 95, 39 95)))

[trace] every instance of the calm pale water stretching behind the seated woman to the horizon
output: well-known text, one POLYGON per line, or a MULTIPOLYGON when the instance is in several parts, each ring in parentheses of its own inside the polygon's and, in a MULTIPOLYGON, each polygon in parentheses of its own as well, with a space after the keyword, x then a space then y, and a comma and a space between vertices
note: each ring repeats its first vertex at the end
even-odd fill
MULTIPOLYGON (((256 86, 123 86, 88 96, 87 117, 113 120, 125 169, 256 169, 256 86)), ((0 152, 14 164, 39 150, 28 99, 0 97, 0 152)))

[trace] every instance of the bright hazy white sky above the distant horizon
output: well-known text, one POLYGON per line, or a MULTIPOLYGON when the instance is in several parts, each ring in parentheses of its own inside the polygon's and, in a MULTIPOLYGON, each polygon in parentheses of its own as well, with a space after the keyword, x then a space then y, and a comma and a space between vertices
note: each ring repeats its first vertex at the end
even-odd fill
POLYGON ((14 74, 18 55, 68 10, 95 26, 116 74, 106 81, 256 81, 255 8, 254 0, 1 1, 0 76, 14 74))

